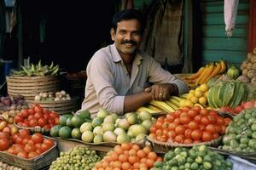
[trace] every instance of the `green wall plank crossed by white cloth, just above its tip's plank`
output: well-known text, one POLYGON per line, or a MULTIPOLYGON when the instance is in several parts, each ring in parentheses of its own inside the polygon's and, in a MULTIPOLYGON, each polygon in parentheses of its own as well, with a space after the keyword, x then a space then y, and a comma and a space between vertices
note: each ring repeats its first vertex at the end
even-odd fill
MULTIPOLYGON (((239 13, 236 17, 236 25, 244 25, 249 22, 249 14, 239 13)), ((202 15, 202 24, 203 26, 207 25, 224 25, 224 14, 223 13, 214 13, 214 14, 203 14, 202 15)))

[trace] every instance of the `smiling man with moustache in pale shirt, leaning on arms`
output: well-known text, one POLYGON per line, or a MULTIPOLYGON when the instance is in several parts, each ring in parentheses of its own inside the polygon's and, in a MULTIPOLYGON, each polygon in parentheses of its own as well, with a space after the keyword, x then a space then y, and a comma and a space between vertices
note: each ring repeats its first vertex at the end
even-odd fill
POLYGON ((113 16, 113 44, 98 50, 87 65, 82 110, 100 108, 122 115, 136 111, 152 99, 166 100, 187 92, 186 84, 139 51, 145 22, 143 14, 125 9, 113 16))

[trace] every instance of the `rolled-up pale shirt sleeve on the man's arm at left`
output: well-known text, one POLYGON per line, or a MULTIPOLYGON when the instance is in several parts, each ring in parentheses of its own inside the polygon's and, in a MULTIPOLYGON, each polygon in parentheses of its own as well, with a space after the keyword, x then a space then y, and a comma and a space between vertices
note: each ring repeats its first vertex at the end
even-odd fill
POLYGON ((113 73, 109 61, 103 54, 95 54, 87 68, 88 77, 94 85, 96 97, 102 108, 115 113, 123 113, 125 96, 119 96, 113 88, 113 73))

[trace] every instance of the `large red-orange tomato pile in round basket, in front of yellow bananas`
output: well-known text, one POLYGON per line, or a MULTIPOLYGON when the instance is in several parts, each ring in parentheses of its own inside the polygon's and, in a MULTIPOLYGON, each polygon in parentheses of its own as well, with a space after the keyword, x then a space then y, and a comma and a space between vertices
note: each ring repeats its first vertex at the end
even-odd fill
POLYGON ((166 116, 160 116, 150 127, 149 136, 162 142, 195 144, 218 139, 225 133, 230 118, 217 111, 186 106, 166 116))

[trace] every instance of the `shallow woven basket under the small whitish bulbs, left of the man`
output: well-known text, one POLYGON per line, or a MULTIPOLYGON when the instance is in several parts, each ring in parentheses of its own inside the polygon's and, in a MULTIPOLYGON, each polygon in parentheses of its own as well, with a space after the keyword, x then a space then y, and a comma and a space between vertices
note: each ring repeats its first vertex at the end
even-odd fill
POLYGON ((58 114, 67 114, 79 110, 79 97, 59 101, 28 101, 29 105, 39 104, 44 109, 55 111, 58 114))

